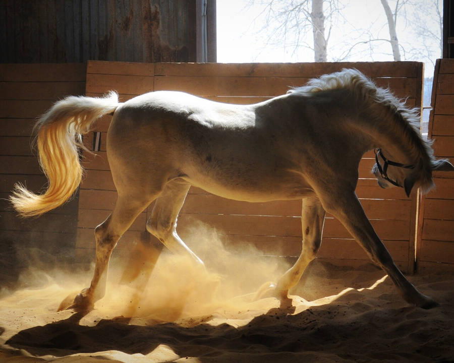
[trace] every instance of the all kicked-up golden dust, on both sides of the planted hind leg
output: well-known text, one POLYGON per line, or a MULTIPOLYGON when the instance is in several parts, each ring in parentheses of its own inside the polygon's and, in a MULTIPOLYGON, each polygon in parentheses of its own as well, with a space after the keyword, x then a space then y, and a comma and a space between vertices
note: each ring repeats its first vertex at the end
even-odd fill
MULTIPOLYGON (((185 241, 204 266, 165 248, 144 250, 137 244, 136 251, 122 250, 120 241, 110 261, 106 295, 95 304, 98 313, 135 317, 139 324, 238 315, 256 308, 259 287, 277 281, 290 267, 281 258, 261 256, 252 246, 227 244, 224 235, 201 223, 186 233, 185 241)), ((65 296, 89 285, 93 268, 50 269, 34 262, 21 274, 15 295, 54 295, 56 310, 65 296)), ((10 293, 3 289, 0 298, 10 293)))

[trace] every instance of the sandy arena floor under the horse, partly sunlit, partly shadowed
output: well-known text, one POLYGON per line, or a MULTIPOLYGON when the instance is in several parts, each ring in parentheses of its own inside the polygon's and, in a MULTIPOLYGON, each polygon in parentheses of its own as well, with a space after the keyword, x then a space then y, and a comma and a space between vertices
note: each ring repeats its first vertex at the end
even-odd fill
POLYGON ((87 284, 86 271, 30 269, 21 278, 28 287, 2 291, 0 361, 454 361, 452 272, 409 277, 440 303, 426 311, 409 306, 372 265, 315 261, 291 307, 280 307, 275 298, 254 297, 286 264, 207 251, 198 251, 206 269, 163 253, 142 293, 137 281, 119 282, 124 267, 113 261, 107 295, 85 315, 56 309, 87 284))

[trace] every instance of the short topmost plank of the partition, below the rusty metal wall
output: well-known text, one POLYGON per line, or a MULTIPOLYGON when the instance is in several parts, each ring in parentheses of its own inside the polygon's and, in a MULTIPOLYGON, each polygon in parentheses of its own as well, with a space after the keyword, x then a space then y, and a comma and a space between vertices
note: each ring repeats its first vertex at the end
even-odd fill
POLYGON ((87 74, 154 76, 154 63, 88 61, 87 74))

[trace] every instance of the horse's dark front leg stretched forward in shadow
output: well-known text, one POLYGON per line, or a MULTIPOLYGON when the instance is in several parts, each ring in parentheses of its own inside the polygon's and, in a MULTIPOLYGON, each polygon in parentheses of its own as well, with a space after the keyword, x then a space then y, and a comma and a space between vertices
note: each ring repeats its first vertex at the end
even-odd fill
POLYGON ((325 209, 347 228, 372 261, 388 274, 407 302, 423 309, 438 306, 431 297, 419 292, 394 264, 391 255, 367 218, 355 192, 349 194, 339 190, 334 195, 329 192, 326 196, 329 198, 324 197, 323 199, 325 209))

